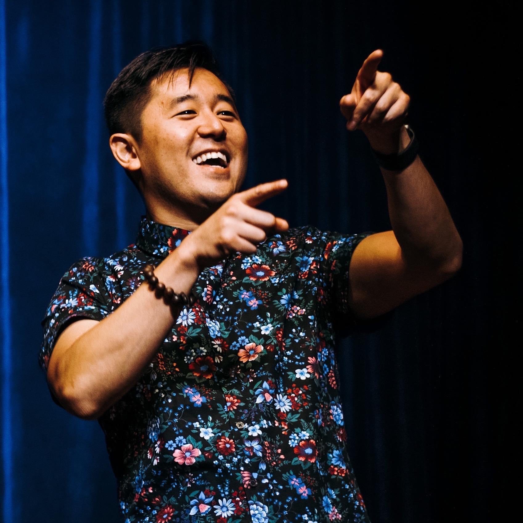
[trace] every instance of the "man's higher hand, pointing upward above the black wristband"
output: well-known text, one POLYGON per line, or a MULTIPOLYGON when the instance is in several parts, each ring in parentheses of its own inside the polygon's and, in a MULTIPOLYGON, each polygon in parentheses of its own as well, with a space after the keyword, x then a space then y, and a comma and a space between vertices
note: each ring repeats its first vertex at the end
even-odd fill
POLYGON ((410 103, 410 97, 392 81, 392 75, 377 70, 382 58, 381 49, 373 51, 363 62, 351 93, 340 100, 347 129, 361 129, 369 138, 397 132, 410 103))

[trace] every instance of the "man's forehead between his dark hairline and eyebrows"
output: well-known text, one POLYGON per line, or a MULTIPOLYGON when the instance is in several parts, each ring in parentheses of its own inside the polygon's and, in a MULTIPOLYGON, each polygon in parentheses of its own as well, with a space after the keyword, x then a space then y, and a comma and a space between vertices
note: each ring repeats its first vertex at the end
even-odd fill
POLYGON ((191 85, 189 85, 189 70, 184 67, 155 78, 151 83, 151 90, 151 102, 165 108, 171 107, 177 98, 185 95, 197 95, 204 101, 214 100, 217 95, 230 96, 224 83, 214 73, 202 67, 194 70, 191 85))

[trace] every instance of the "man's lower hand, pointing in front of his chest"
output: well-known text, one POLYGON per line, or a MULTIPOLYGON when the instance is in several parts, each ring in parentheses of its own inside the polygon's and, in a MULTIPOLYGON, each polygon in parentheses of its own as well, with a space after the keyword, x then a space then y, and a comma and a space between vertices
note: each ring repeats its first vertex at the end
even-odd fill
POLYGON ((281 179, 237 192, 188 235, 176 251, 186 259, 194 259, 199 271, 232 253, 255 253, 257 244, 268 234, 288 229, 286 220, 255 207, 286 188, 287 180, 281 179))

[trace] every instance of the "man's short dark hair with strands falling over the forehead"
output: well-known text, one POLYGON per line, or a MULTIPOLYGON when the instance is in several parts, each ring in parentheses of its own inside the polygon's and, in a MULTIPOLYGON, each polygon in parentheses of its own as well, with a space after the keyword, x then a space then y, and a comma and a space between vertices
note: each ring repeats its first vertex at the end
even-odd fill
POLYGON ((187 40, 170 47, 155 47, 141 53, 120 71, 104 98, 104 112, 109 133, 131 134, 138 142, 142 138, 141 115, 151 98, 151 82, 165 73, 188 67, 189 85, 196 67, 203 67, 215 74, 229 90, 236 103, 235 94, 221 78, 212 49, 201 40, 187 40))

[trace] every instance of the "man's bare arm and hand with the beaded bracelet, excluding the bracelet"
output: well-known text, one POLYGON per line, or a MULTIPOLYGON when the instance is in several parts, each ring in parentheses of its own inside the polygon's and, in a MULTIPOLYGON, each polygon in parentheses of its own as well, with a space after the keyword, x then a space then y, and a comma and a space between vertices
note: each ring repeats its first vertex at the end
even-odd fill
MULTIPOLYGON (((254 206, 286 186, 286 181, 279 180, 233 195, 154 274, 175 292, 188 295, 204 267, 231 253, 254 253, 266 232, 288 228, 285 220, 254 206)), ((80 320, 66 327, 55 343, 47 371, 60 404, 84 419, 101 416, 139 380, 180 309, 156 298, 144 283, 102 321, 80 320)))

